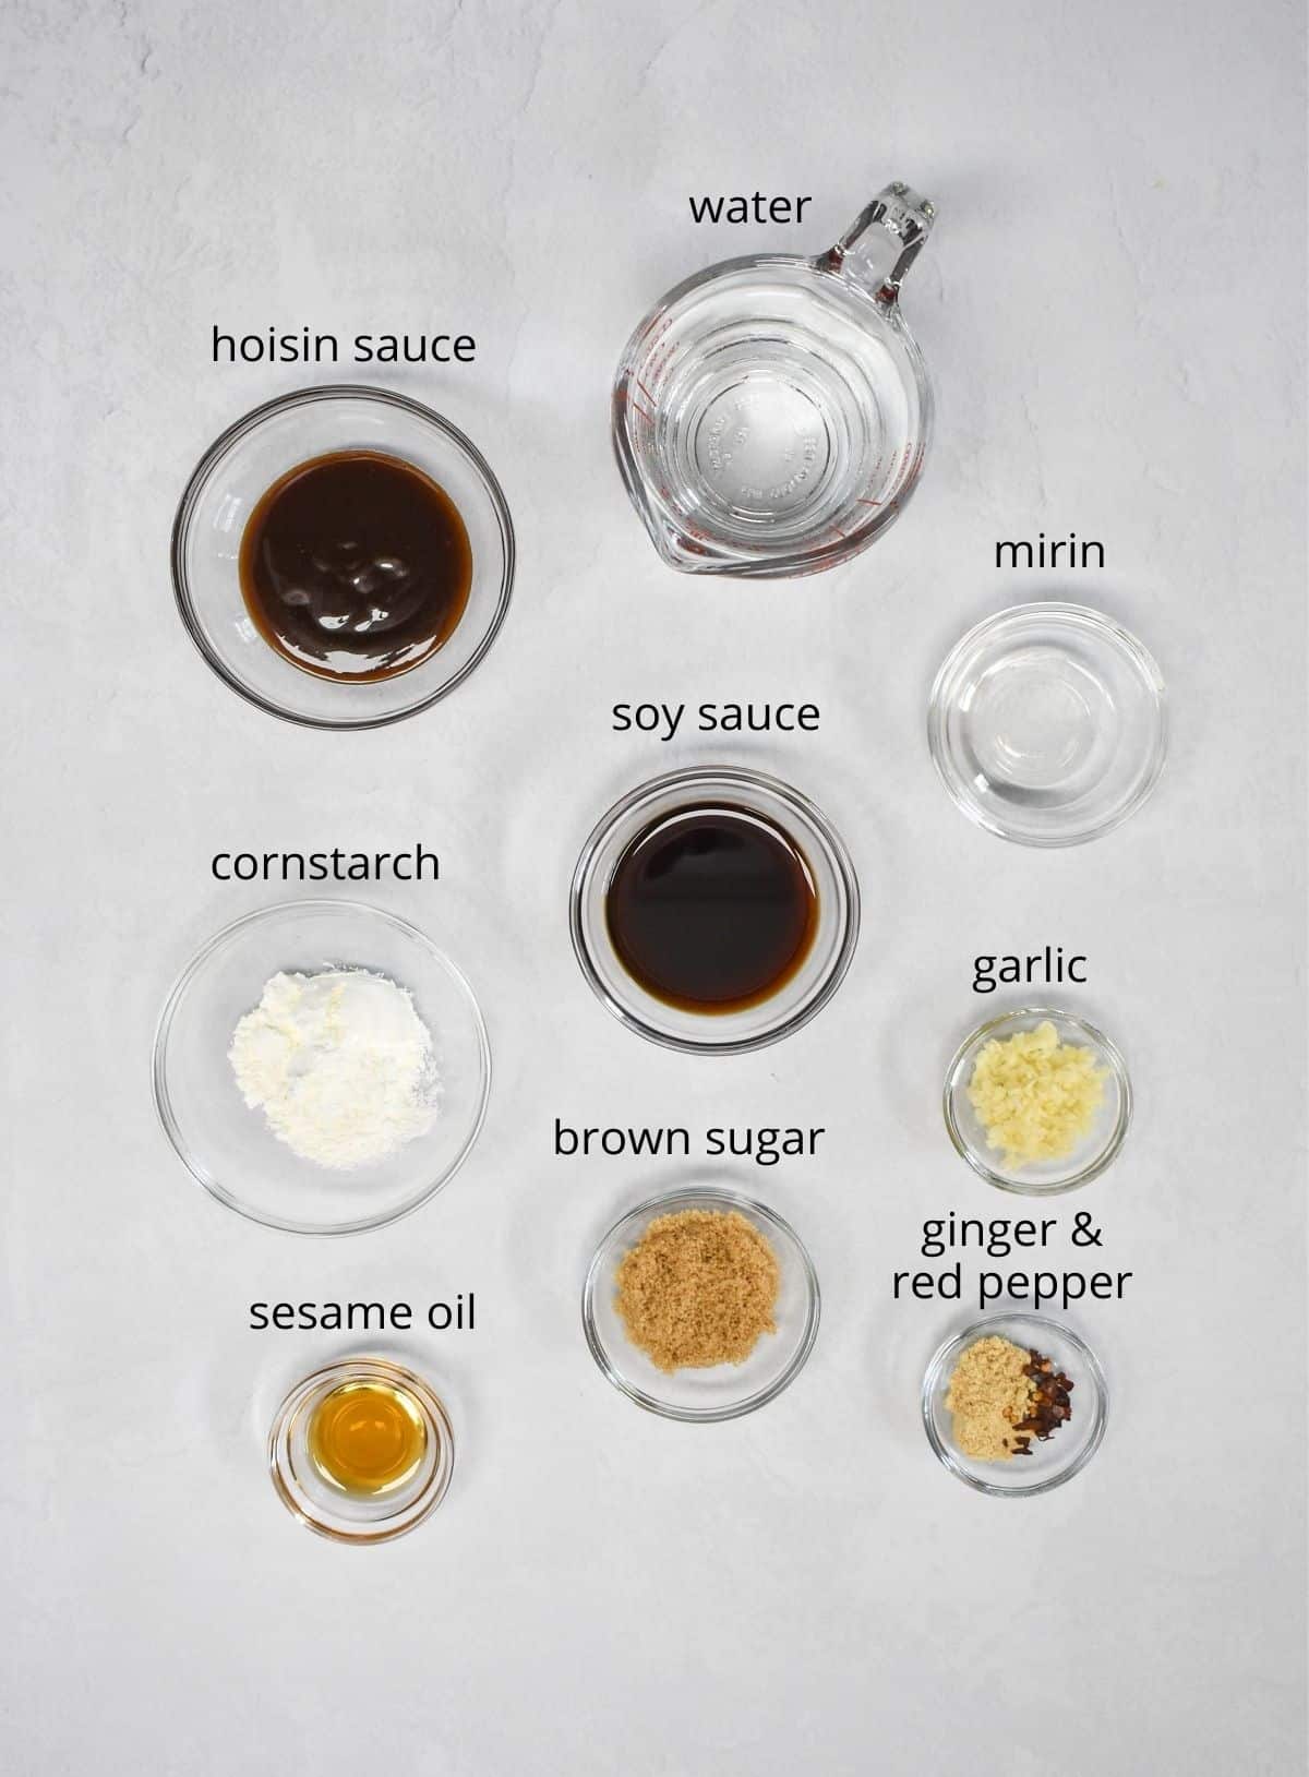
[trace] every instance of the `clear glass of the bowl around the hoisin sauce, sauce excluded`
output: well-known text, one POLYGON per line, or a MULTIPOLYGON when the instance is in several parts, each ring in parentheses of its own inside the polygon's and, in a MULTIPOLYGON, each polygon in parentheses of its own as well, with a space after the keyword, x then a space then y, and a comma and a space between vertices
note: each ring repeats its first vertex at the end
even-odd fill
POLYGON ((440 414, 387 389, 300 389, 256 407, 201 458, 172 526, 172 586, 195 647, 250 704, 307 729, 377 729, 435 704, 485 656, 510 604, 513 524, 481 451, 440 414), (352 448, 423 469, 458 506, 472 546, 469 602, 444 647, 410 672, 362 682, 320 679, 272 649, 238 572, 245 522, 274 482, 352 448))

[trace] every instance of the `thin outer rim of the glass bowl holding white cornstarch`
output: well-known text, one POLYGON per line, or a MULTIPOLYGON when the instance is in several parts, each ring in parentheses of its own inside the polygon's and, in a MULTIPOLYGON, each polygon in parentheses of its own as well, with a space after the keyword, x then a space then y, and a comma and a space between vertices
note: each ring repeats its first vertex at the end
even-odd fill
POLYGON ((472 992, 472 986, 469 984, 469 979, 464 974, 464 970, 456 963, 453 963, 449 956, 446 956, 446 952, 440 951, 432 942, 432 938, 426 936, 426 933, 419 931, 417 926, 412 926, 407 919, 401 919, 398 913, 391 913, 385 908, 371 906, 368 901, 352 901, 352 899, 337 901, 332 899, 330 896, 311 896, 304 901, 275 901, 272 906, 261 906, 250 913, 242 913, 240 919, 229 920, 210 938, 206 938, 204 944, 201 944, 201 947, 192 954, 190 961, 183 965, 163 1000, 163 1008, 160 1009, 155 1025, 155 1043, 151 1047, 151 1095, 155 1098, 155 1114, 158 1118, 163 1134, 169 1139, 172 1151, 178 1155, 178 1159, 186 1167, 190 1176, 199 1185, 202 1185, 217 1203, 222 1203, 224 1208, 233 1210, 245 1221, 258 1223, 261 1228, 277 1228, 281 1233, 316 1235, 320 1239, 330 1240, 330 1239, 339 1239, 341 1235, 368 1233, 373 1228, 389 1228, 393 1223, 403 1221, 405 1215, 412 1215, 416 1210, 423 1208, 424 1203, 430 1203, 432 1198, 449 1183, 449 1180, 455 1176, 455 1173, 458 1173, 458 1169, 464 1166, 469 1153, 476 1146, 478 1136, 481 1134, 481 1127, 487 1121, 487 1105, 490 1104, 490 1070, 492 1070, 490 1038, 487 1036, 487 1020, 481 1015, 481 1006, 478 1004, 478 997, 472 992), (290 1221, 288 1217, 282 1215, 265 1214, 254 1208, 252 1205, 242 1201, 218 1178, 215 1178, 204 1169, 199 1155, 195 1155, 190 1150, 188 1143, 185 1141, 172 1107, 167 1086, 167 1056, 169 1056, 169 1034, 172 1031, 172 1020, 176 1018, 183 993, 186 992, 186 988, 192 986, 192 983, 201 974, 201 970, 210 961, 215 951, 218 951, 229 938, 236 936, 236 933, 243 931, 247 926, 266 924, 277 917, 286 917, 291 913, 305 913, 305 912, 321 913, 327 912, 329 908, 332 912, 364 913, 371 919, 384 920, 401 936, 417 942, 437 961, 437 965, 453 979, 455 986, 458 988, 460 995, 464 997, 472 1015, 472 1027, 478 1040, 481 1091, 478 1098, 476 1116, 455 1159, 432 1183, 424 1187, 424 1191, 419 1196, 401 1203, 398 1208, 389 1210, 384 1215, 359 1215, 346 1223, 332 1223, 330 1226, 323 1226, 321 1223, 300 1223, 300 1221, 290 1221))

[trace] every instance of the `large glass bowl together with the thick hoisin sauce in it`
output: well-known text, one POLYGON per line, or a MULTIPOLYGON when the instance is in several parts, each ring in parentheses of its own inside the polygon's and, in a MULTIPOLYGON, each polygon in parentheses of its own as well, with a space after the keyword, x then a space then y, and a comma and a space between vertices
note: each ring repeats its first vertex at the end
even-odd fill
POLYGON ((375 729, 490 649, 513 524, 478 448, 387 389, 300 389, 218 437, 172 528, 195 647, 240 697, 311 729, 375 729))

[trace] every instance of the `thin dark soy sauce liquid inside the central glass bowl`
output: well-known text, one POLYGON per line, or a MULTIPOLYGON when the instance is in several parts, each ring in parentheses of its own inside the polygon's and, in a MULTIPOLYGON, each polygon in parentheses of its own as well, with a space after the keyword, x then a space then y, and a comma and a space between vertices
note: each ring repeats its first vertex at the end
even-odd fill
POLYGON ((797 972, 817 929, 808 860, 748 809, 684 809, 627 846, 606 894, 609 940, 647 993, 744 1011, 797 972))

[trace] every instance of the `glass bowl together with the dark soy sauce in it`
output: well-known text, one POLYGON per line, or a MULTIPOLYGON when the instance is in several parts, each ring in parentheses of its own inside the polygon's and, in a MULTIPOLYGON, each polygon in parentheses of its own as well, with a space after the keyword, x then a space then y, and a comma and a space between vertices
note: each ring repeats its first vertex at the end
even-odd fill
POLYGON ((652 1043, 742 1054, 806 1024, 860 933, 851 857, 806 796, 693 768, 615 803, 572 881, 572 942, 599 999, 652 1043))

